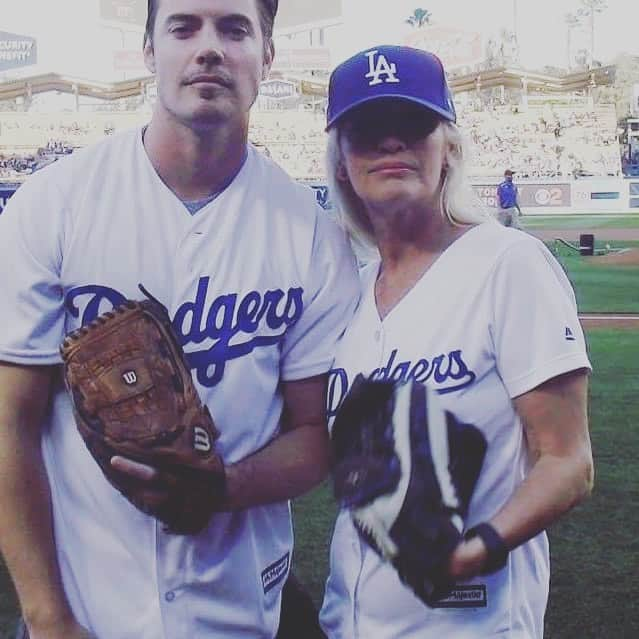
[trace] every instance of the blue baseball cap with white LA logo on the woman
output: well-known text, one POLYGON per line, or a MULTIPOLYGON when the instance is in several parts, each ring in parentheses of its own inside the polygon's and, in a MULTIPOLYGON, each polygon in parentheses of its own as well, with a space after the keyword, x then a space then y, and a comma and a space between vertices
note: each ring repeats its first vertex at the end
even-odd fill
POLYGON ((352 109, 380 98, 407 100, 451 122, 457 119, 444 67, 436 55, 380 45, 356 53, 331 74, 326 130, 352 109))

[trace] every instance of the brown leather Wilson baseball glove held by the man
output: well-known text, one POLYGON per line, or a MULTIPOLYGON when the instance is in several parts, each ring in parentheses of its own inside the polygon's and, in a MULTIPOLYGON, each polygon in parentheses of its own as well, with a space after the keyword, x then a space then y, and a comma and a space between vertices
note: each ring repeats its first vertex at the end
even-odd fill
POLYGON ((201 531, 224 497, 219 432, 166 309, 126 301, 67 335, 60 352, 78 430, 106 478, 170 532, 201 531), (114 469, 115 455, 157 469, 162 497, 114 469))

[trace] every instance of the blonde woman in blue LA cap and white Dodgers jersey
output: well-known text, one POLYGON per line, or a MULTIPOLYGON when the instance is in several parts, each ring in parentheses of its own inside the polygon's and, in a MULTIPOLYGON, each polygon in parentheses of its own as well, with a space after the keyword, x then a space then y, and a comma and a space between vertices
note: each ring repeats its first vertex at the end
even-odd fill
POLYGON ((457 587, 436 607, 340 512, 321 610, 330 639, 541 638, 544 529, 592 484, 590 364, 571 286, 541 242, 465 197, 455 119, 441 62, 424 51, 379 46, 331 77, 329 187, 378 257, 361 274, 329 412, 358 373, 412 378, 480 428, 488 450, 449 563, 457 587))

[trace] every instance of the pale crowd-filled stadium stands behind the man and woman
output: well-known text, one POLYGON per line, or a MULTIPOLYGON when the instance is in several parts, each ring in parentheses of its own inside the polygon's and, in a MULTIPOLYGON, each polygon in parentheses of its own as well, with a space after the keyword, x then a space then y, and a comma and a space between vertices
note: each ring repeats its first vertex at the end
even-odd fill
MULTIPOLYGON (((91 144, 140 125, 136 113, 0 114, 0 179, 11 179, 91 144)), ((499 177, 505 166, 518 178, 621 175, 614 106, 586 104, 461 106, 459 124, 469 138, 470 174, 499 177)), ((305 110, 256 111, 251 141, 297 179, 322 179, 324 117, 305 110)))

